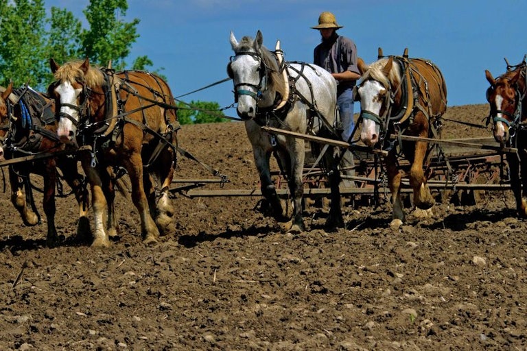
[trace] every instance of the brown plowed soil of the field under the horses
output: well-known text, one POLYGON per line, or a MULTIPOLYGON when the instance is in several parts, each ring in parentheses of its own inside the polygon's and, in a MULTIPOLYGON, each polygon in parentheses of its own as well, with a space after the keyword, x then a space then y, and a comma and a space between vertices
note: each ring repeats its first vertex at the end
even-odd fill
MULTIPOLYGON (((487 112, 445 118, 483 125, 487 112)), ((444 125, 445 138, 491 135, 444 125)), ((179 141, 229 176, 222 189, 259 188, 242 123, 184 125, 179 141)), ((216 179, 183 157, 176 178, 216 179)), ((257 197, 175 194, 177 237, 145 247, 118 195, 121 238, 105 250, 75 245, 75 200, 59 198, 65 241, 50 249, 45 220, 23 226, 6 189, 0 349, 526 350, 527 226, 509 191, 445 201, 397 231, 386 202, 343 206, 347 229, 332 233, 311 206, 296 236, 255 211, 257 197)))

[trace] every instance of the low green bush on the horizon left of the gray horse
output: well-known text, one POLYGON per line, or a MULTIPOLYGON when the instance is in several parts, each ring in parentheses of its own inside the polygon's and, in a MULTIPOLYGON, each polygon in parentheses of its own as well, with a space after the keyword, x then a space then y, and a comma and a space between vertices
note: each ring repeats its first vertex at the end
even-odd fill
POLYGON ((217 123, 225 122, 223 111, 220 111, 220 104, 215 101, 190 101, 187 104, 183 101, 178 102, 178 121, 181 124, 198 123, 217 123))

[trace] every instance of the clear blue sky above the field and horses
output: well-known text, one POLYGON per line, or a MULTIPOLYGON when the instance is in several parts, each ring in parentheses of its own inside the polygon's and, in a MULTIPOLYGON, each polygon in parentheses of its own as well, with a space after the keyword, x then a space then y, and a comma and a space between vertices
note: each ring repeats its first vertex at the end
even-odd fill
MULTIPOLYGON (((47 8, 67 8, 80 19, 87 3, 45 0, 47 8)), ((484 70, 500 75, 504 58, 517 64, 527 53, 525 0, 128 0, 126 20, 141 21, 129 62, 148 56, 175 96, 226 77, 231 31, 239 40, 260 29, 270 49, 281 40, 286 60, 312 62, 320 34, 310 27, 323 11, 336 15, 344 26, 339 34, 355 41, 366 63, 377 59, 378 47, 385 55, 408 47, 410 57, 435 62, 445 75, 448 106, 486 104, 484 70)), ((233 103, 232 90, 226 82, 181 99, 224 107, 233 103)), ((225 113, 235 116, 234 109, 225 113)))

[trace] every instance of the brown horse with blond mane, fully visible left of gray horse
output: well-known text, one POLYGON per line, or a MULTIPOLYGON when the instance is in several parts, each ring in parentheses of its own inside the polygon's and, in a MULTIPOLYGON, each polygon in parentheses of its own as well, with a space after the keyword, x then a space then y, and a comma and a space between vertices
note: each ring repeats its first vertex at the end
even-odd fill
POLYGON ((132 202, 139 211, 146 244, 173 232, 169 185, 176 166, 179 124, 167 83, 143 71, 114 73, 89 60, 58 66, 49 94, 60 106, 58 136, 80 147, 78 155, 91 186, 95 217, 93 246, 117 236, 115 174, 126 170, 132 202), (104 210, 107 210, 106 225, 104 210))

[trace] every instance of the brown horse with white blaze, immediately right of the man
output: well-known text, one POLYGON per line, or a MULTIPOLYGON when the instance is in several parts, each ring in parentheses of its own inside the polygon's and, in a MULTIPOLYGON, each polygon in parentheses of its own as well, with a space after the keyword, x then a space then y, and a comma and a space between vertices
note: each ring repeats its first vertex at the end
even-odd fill
POLYGON ((358 95, 360 97, 360 138, 366 145, 379 145, 388 151, 386 170, 393 204, 391 226, 398 228, 404 221, 401 203, 401 178, 408 175, 417 208, 428 210, 434 197, 426 184, 423 170, 432 146, 428 141, 390 143, 390 135, 434 138, 439 136, 441 116, 447 108, 447 88, 441 71, 435 64, 420 58, 403 56, 382 57, 367 66, 359 60, 362 74, 358 95), (406 172, 398 164, 399 156, 410 162, 406 172))

